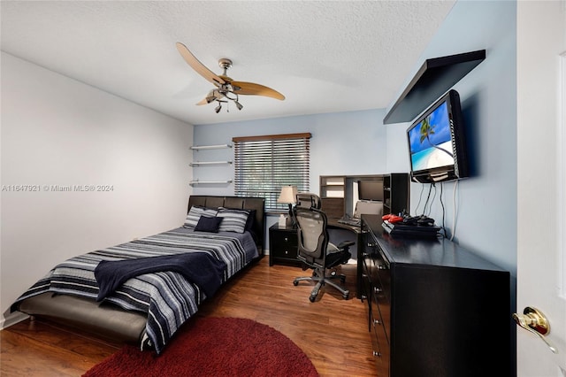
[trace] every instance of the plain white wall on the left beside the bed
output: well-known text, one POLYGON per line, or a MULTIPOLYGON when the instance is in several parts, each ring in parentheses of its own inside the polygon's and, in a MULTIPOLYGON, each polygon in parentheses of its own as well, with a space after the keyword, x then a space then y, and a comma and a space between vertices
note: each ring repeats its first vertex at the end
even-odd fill
POLYGON ((187 123, 3 52, 2 312, 65 258, 180 226, 192 135, 187 123))

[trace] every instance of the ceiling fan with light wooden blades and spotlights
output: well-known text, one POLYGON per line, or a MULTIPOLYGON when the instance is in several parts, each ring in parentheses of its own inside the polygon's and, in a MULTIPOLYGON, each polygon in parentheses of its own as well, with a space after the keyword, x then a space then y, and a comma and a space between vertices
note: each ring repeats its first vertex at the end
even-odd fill
POLYGON ((197 104, 211 104, 217 102, 218 106, 215 111, 218 113, 222 109, 222 104, 228 103, 228 100, 233 101, 238 110, 241 110, 243 106, 239 102, 239 96, 269 96, 281 101, 285 99, 285 96, 277 90, 265 87, 264 85, 246 81, 233 81, 232 78, 226 75, 226 71, 232 66, 232 60, 229 58, 221 58, 218 60, 218 65, 224 70, 224 73, 216 74, 195 58, 195 55, 193 55, 183 43, 177 42, 176 45, 181 57, 185 59, 188 65, 190 65, 196 73, 199 73, 216 86, 216 88, 210 90, 209 94, 197 104))

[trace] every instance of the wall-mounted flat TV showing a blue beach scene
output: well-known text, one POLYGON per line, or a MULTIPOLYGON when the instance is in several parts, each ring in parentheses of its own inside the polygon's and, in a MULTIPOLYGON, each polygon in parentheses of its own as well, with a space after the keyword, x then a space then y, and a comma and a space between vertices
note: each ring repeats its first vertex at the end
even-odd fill
POLYGON ((460 96, 450 90, 407 129, 413 181, 432 183, 468 176, 460 96))

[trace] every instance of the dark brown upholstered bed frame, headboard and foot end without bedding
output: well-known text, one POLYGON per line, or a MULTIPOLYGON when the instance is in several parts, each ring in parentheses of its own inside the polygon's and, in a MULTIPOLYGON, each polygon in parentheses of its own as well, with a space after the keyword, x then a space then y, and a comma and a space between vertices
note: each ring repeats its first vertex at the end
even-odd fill
MULTIPOLYGON (((188 210, 193 205, 256 210, 257 250, 259 258, 264 256, 265 199, 263 197, 239 196, 190 196, 188 210)), ((82 297, 43 293, 29 297, 18 307, 19 312, 49 319, 73 327, 80 332, 96 335, 112 342, 140 344, 145 334, 147 316, 140 312, 128 312, 115 304, 96 303, 82 297)))

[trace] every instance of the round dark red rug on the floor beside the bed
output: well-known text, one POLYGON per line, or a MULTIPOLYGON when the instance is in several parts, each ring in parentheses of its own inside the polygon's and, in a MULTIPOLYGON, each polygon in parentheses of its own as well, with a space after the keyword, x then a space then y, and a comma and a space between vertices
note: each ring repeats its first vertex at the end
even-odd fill
POLYGON ((194 318, 161 355, 125 346, 86 377, 317 376, 310 359, 287 336, 251 319, 194 318))

